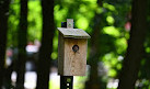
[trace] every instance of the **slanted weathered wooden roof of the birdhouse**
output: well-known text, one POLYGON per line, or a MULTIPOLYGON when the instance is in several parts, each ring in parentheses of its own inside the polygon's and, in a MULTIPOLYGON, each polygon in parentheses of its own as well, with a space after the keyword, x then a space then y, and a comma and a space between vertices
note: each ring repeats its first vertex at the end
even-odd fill
POLYGON ((90 38, 90 35, 81 29, 67 29, 67 27, 57 27, 57 29, 64 35, 64 37, 90 38))

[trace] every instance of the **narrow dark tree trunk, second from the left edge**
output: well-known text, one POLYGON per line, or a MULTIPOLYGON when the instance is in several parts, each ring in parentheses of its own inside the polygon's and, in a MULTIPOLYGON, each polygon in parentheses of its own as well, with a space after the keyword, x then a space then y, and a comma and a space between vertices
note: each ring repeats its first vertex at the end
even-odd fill
POLYGON ((26 44, 27 44, 27 0, 21 0, 20 24, 18 31, 18 68, 16 68, 16 89, 24 89, 24 74, 26 62, 26 44))

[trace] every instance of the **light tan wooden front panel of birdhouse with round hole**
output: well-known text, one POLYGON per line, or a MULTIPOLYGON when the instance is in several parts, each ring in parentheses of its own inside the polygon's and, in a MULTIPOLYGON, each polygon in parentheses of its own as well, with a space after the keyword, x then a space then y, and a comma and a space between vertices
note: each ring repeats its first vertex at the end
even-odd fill
POLYGON ((65 38, 65 76, 85 76, 86 45, 86 38, 65 38))

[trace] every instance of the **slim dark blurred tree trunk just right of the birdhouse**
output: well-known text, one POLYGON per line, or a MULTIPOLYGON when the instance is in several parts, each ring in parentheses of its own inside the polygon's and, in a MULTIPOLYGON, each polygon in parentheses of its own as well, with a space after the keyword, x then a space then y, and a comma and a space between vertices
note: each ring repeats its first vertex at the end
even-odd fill
MULTIPOLYGON (((97 0, 97 5, 102 7, 102 0, 97 0)), ((100 57, 100 32, 101 32, 101 14, 95 13, 94 26, 91 35, 91 52, 90 52, 90 79, 86 81, 85 89, 100 89, 100 78, 97 73, 97 63, 100 57)))

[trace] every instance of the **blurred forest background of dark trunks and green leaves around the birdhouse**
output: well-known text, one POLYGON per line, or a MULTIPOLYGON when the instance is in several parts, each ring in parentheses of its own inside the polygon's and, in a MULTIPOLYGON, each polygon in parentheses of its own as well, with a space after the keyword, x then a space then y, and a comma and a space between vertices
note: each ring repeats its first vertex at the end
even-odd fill
POLYGON ((67 19, 91 35, 74 89, 150 89, 149 10, 149 0, 0 0, 0 89, 59 89, 49 75, 67 19))

